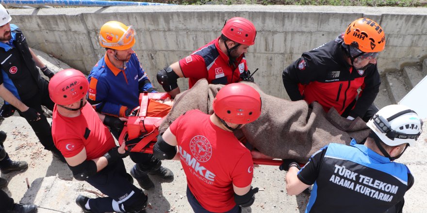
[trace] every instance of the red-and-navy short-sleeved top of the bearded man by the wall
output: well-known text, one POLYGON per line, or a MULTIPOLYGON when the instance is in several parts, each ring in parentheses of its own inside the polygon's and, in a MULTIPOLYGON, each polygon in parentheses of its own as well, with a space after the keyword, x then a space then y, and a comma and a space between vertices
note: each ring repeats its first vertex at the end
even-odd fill
POLYGON ((247 71, 244 54, 236 60, 236 68, 230 66, 229 57, 220 50, 218 40, 219 37, 179 61, 182 74, 189 78, 190 88, 202 78, 210 84, 236 83, 241 81, 240 74, 247 71))

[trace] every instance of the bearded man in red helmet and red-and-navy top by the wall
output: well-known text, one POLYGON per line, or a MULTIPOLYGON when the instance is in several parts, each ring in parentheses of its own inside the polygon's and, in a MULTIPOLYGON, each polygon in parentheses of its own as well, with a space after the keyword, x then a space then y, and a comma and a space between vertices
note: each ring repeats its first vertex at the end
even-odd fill
POLYGON ((245 53, 255 44, 255 26, 246 18, 233 17, 226 21, 221 33, 207 45, 157 73, 157 81, 164 91, 172 97, 180 93, 177 84, 180 77, 189 78, 190 88, 202 78, 210 84, 253 82, 253 78, 249 78, 245 53))

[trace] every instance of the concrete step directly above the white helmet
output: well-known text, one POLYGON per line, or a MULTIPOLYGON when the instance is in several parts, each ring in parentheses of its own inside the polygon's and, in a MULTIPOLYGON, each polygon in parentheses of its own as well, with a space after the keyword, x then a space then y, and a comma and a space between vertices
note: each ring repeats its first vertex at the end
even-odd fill
POLYGON ((400 72, 386 73, 385 83, 392 104, 397 104, 409 92, 400 72))

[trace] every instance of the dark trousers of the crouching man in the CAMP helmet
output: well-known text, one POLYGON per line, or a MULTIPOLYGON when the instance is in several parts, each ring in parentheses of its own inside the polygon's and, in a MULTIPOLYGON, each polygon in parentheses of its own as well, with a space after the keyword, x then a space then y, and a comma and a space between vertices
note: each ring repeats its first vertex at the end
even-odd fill
POLYGON ((89 200, 90 211, 94 213, 129 212, 129 208, 147 200, 144 192, 129 182, 122 159, 109 164, 86 182, 108 196, 89 200))

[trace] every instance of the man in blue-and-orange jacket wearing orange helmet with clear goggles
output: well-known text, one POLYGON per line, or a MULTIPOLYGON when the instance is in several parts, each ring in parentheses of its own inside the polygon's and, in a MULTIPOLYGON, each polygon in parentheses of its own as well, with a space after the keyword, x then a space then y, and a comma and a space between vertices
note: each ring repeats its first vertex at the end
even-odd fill
MULTIPOLYGON (((99 44, 106 53, 88 76, 88 101, 98 112, 128 118, 133 108, 140 105, 140 92, 157 92, 132 49, 135 34, 132 26, 118 21, 109 21, 101 27, 99 44)), ((118 139, 121 129, 110 127, 110 131, 118 139)), ((162 167, 162 162, 152 154, 131 152, 130 157, 136 163, 131 175, 142 188, 154 188, 148 174, 173 179, 172 171, 162 167)))

